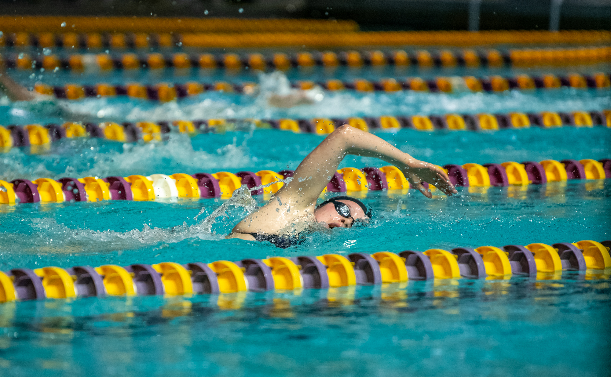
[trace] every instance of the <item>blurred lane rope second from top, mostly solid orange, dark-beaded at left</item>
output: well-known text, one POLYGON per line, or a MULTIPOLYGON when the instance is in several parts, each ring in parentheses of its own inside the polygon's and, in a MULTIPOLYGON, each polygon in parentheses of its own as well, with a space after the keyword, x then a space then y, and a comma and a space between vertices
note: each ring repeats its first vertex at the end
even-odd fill
MULTIPOLYGON (((9 18, 10 19, 10 18, 9 18)), ((103 20, 103 18, 101 18, 103 20)), ((31 30, 31 27, 37 27, 37 24, 31 24, 27 27, 10 27, 4 22, 6 17, 0 18, 5 33, 0 37, 0 46, 37 46, 37 47, 53 47, 63 46, 65 48, 122 48, 122 47, 199 47, 199 48, 254 48, 254 47, 290 47, 296 48, 335 48, 343 46, 486 46, 486 45, 555 45, 559 43, 570 43, 580 45, 602 45, 611 43, 611 32, 606 30, 591 30, 591 31, 341 31, 329 30, 323 31, 323 27, 329 27, 328 23, 320 23, 316 25, 317 30, 308 32, 297 31, 297 28, 304 27, 299 22, 293 23, 290 20, 288 23, 280 27, 288 28, 295 27, 292 31, 270 30, 273 24, 272 20, 264 20, 267 22, 260 23, 262 28, 267 30, 253 30, 250 32, 225 32, 210 31, 210 32, 194 32, 189 33, 180 30, 180 27, 175 29, 146 29, 133 31, 133 33, 99 33, 87 32, 77 34, 75 32, 58 32, 57 30, 36 33, 38 30, 31 30), (288 26, 293 23, 293 26, 288 26), (10 29, 16 32, 9 32, 10 29), (30 32, 34 32, 31 34, 30 32), (144 34, 143 32, 152 32, 152 34, 144 34)), ((134 19, 137 20, 137 19, 134 19)), ((63 21, 57 23, 59 26, 63 21)), ((101 30, 108 30, 108 26, 112 25, 117 30, 128 26, 133 21, 128 23, 106 23, 106 27, 101 30)), ((93 25, 93 24, 92 24, 93 25)), ((232 22, 229 21, 222 27, 232 27, 232 22)), ((307 26, 309 27, 309 26, 307 26)), ((338 23, 334 27, 355 27, 354 23, 345 21, 338 23)), ((98 29, 100 30, 100 29, 98 29)), ((64 30, 62 30, 64 31, 64 30)))

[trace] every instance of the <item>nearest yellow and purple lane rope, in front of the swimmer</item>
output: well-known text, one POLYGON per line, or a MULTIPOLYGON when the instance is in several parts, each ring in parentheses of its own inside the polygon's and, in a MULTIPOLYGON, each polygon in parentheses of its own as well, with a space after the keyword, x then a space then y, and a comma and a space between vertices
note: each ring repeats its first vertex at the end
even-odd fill
POLYGON ((0 303, 87 296, 193 295, 326 289, 429 279, 561 279, 562 271, 593 275, 611 269, 611 241, 553 245, 406 250, 395 254, 324 254, 209 264, 102 265, 0 271, 0 303), (599 270, 599 271, 596 271, 599 270), (600 271, 602 270, 602 271, 600 271))

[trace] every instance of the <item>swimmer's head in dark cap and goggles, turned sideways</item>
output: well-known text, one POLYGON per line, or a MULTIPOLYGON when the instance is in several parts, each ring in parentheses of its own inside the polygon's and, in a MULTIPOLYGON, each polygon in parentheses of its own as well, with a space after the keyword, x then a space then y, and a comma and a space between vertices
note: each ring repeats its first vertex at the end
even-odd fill
POLYGON ((319 204, 314 216, 329 228, 351 228, 355 221, 371 219, 373 210, 359 199, 335 196, 319 204))

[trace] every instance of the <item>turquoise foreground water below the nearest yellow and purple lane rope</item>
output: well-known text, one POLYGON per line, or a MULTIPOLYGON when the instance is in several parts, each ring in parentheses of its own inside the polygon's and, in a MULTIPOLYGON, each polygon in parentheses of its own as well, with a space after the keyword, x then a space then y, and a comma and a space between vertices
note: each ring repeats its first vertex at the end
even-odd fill
POLYGON ((357 287, 354 294, 249 293, 235 299, 242 304, 234 310, 219 309, 218 300, 139 297, 2 306, 3 318, 9 318, 3 323, 3 375, 609 373, 608 281, 568 276, 434 287, 410 282, 357 287))

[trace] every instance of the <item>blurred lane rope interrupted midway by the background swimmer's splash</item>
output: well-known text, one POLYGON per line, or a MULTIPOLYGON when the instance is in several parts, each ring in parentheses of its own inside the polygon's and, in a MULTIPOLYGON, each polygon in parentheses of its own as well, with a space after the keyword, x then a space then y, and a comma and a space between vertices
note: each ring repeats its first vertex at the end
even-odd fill
MULTIPOLYGON (((382 79, 372 82, 364 79, 354 81, 341 81, 331 79, 324 82, 295 81, 291 85, 301 90, 308 90, 320 85, 325 90, 356 90, 357 92, 387 92, 394 93, 402 90, 413 90, 415 92, 431 93, 459 93, 459 92, 494 92, 501 93, 507 90, 554 90, 561 87, 587 89, 598 88, 609 90, 611 79, 609 74, 594 73, 584 76, 577 73, 568 76, 555 76, 544 74, 540 77, 531 77, 527 74, 519 74, 514 77, 502 77, 499 75, 474 77, 474 76, 450 76, 437 77, 433 80, 425 80, 421 77, 408 77, 406 79, 382 79)), ((169 102, 177 98, 200 95, 206 91, 219 91, 225 93, 242 93, 254 95, 258 91, 258 85, 254 82, 243 82, 231 84, 225 81, 202 84, 200 82, 185 82, 168 84, 161 82, 155 85, 144 85, 139 83, 128 83, 125 85, 111 84, 66 84, 63 86, 51 86, 38 82, 34 85, 37 93, 55 96, 61 99, 82 99, 103 96, 130 96, 132 98, 152 99, 155 101, 169 102)))

